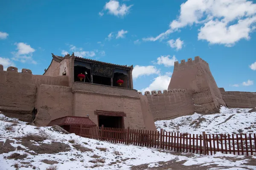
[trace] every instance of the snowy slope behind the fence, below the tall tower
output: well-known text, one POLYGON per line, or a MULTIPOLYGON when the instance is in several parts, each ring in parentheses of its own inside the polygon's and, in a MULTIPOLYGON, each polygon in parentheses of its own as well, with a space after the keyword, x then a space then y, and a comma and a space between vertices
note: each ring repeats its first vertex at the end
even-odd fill
POLYGON ((156 121, 157 130, 163 128, 167 132, 202 134, 236 134, 256 133, 256 112, 251 109, 221 107, 220 113, 191 116, 181 116, 171 120, 156 121))

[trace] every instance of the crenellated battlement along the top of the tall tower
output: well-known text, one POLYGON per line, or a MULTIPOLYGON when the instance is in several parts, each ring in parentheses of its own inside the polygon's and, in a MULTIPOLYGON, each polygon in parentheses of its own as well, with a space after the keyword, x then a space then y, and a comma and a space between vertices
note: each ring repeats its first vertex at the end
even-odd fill
POLYGON ((206 66, 206 68, 209 68, 209 64, 204 61, 204 59, 201 59, 199 56, 195 57, 195 60, 192 60, 192 58, 187 59, 187 62, 185 59, 180 60, 180 63, 178 61, 174 62, 174 71, 183 70, 191 65, 195 65, 197 63, 201 63, 206 66))

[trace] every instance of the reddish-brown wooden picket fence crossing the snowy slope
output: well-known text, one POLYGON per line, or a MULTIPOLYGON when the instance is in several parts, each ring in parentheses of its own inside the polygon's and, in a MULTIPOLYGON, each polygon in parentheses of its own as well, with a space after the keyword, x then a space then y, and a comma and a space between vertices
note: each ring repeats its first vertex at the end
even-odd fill
POLYGON ((152 130, 118 129, 71 125, 70 133, 100 141, 154 147, 177 152, 213 155, 216 152, 234 155, 256 154, 256 134, 186 134, 152 130))

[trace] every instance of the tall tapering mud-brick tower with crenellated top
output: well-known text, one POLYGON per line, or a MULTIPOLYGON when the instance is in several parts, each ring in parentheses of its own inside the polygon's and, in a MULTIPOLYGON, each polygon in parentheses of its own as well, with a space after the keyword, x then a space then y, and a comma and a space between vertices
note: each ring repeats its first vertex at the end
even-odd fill
POLYGON ((175 62, 170 89, 191 90, 192 99, 197 113, 216 113, 220 105, 226 106, 221 92, 212 76, 209 64, 200 57, 175 62))

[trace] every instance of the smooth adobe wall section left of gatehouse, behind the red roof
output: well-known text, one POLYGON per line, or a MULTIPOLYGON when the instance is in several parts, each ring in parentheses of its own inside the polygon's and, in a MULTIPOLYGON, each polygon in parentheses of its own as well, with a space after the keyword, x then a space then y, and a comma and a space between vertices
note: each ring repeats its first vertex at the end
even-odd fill
POLYGON ((72 88, 58 85, 40 85, 35 103, 35 125, 46 126, 51 120, 73 116, 72 88))

